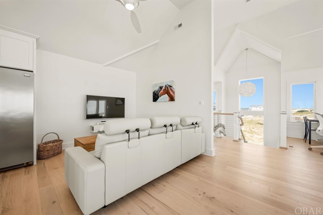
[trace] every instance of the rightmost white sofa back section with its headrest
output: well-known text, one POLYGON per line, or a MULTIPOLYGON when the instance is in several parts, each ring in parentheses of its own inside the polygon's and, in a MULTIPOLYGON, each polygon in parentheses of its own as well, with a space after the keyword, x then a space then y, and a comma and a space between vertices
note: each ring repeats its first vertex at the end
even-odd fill
POLYGON ((184 164, 205 151, 205 138, 202 141, 201 122, 202 119, 200 117, 183 117, 181 118, 181 124, 177 126, 177 129, 181 130, 182 138, 181 164, 184 164))

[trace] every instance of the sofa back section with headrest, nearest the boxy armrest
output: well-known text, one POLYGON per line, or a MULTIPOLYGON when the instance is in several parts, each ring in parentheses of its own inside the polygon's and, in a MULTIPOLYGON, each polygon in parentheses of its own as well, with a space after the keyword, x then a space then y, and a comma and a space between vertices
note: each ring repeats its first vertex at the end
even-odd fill
POLYGON ((106 138, 114 138, 115 135, 126 137, 123 141, 105 144, 102 148, 100 159, 105 164, 105 205, 142 185, 140 139, 148 135, 149 127, 150 120, 147 118, 123 118, 105 122, 106 138), (135 134, 131 135, 131 132, 135 134))

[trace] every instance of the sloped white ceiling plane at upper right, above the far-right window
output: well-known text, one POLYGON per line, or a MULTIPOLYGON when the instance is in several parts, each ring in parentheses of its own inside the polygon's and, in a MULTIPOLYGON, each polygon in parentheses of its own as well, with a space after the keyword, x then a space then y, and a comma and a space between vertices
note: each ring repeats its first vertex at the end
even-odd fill
POLYGON ((283 49, 289 39, 323 30, 323 1, 296 1, 287 7, 243 22, 239 28, 283 49))

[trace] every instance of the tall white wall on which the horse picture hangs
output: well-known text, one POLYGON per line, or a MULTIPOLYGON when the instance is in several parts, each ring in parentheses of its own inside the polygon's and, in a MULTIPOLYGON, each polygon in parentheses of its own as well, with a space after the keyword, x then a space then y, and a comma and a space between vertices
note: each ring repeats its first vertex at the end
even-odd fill
POLYGON ((194 1, 172 21, 137 72, 137 117, 200 116, 213 155, 210 1, 194 1), (174 31, 174 26, 183 27, 174 31), (175 102, 152 102, 154 83, 175 80, 175 102), (204 105, 199 105, 204 101, 204 105))

